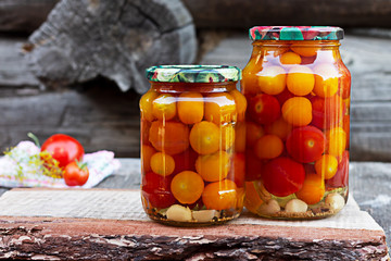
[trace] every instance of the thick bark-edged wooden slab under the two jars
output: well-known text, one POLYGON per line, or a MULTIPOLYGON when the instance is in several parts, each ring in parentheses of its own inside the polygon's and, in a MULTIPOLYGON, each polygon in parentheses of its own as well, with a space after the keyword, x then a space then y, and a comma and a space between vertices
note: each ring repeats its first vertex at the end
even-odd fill
POLYGON ((382 228, 352 199, 326 220, 276 222, 244 213, 226 225, 189 229, 150 221, 139 194, 11 190, 0 198, 0 259, 388 259, 382 228))

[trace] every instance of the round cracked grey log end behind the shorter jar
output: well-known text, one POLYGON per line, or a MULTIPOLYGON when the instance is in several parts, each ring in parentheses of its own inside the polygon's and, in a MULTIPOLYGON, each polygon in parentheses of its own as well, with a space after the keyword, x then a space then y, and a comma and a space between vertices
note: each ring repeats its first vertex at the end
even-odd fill
POLYGON ((180 0, 62 0, 24 50, 46 86, 101 75, 141 94, 149 88, 146 67, 193 62, 197 40, 180 0))

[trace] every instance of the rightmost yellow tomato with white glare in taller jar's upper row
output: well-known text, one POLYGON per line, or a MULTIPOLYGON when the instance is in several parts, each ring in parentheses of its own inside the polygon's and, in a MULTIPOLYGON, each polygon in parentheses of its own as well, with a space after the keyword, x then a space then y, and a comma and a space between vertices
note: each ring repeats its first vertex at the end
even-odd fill
POLYGON ((339 74, 337 69, 330 63, 317 65, 314 69, 315 87, 314 92, 319 97, 331 97, 338 91, 339 74))

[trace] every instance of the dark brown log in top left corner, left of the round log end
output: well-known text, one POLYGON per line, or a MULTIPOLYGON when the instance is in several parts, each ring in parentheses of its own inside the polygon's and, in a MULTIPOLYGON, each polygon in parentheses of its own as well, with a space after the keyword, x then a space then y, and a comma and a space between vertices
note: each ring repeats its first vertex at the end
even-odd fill
POLYGON ((31 33, 47 18, 59 0, 0 1, 0 32, 31 33))

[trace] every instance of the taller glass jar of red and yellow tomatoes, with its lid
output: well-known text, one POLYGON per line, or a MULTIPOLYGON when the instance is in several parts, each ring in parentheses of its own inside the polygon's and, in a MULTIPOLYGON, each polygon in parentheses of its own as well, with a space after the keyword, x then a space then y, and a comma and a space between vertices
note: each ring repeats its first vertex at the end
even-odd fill
POLYGON ((244 206, 272 219, 320 219, 348 199, 351 75, 339 27, 257 26, 243 70, 244 206))

